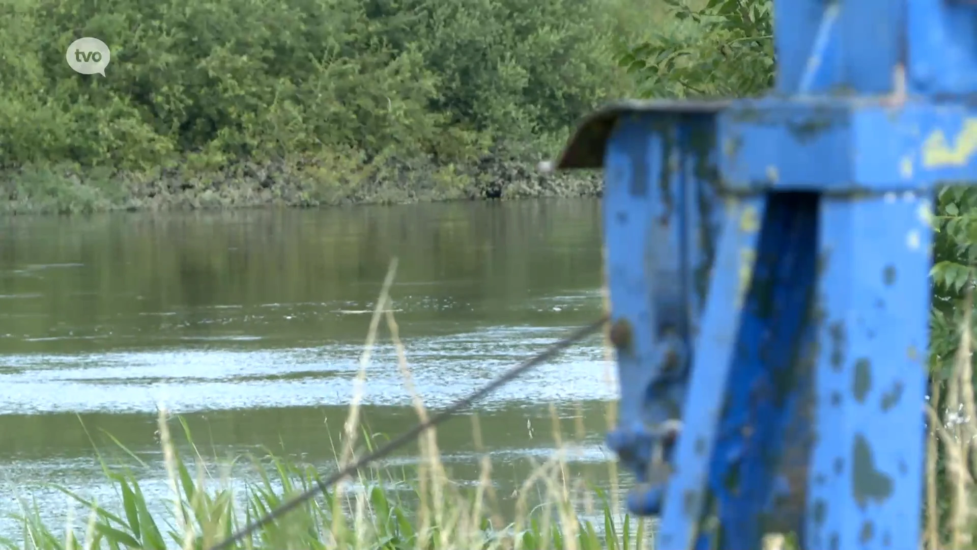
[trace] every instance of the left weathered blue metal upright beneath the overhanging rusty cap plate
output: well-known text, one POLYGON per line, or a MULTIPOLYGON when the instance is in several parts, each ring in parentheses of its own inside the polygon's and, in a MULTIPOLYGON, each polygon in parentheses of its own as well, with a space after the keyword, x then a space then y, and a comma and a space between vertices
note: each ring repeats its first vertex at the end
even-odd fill
POLYGON ((722 205, 714 189, 711 116, 666 111, 618 118, 605 160, 611 340, 627 421, 608 444, 637 476, 630 506, 656 514, 660 467, 689 375, 722 205), (650 338, 651 337, 651 338, 650 338))

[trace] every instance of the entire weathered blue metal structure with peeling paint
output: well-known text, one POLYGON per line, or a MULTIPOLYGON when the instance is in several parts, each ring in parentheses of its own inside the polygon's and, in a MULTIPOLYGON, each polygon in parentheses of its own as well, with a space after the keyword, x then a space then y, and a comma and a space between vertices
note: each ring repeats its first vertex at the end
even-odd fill
POLYGON ((918 548, 931 197, 977 179, 977 6, 775 0, 777 88, 624 102, 605 172, 619 426, 658 550, 918 548))

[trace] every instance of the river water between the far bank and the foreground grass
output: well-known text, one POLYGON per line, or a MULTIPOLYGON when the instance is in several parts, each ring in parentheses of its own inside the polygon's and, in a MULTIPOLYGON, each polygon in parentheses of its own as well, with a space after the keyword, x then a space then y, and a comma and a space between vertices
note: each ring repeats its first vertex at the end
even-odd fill
MULTIPOLYGON (((431 408, 602 310, 597 201, 0 222, 0 513, 33 497, 46 518, 61 521, 65 497, 49 483, 112 501, 96 449, 109 463, 134 461, 106 434, 146 462, 137 470, 143 490, 162 501, 159 404, 182 415, 210 455, 271 449, 334 467, 393 256, 393 309, 414 385, 431 408)), ((616 382, 604 357, 601 338, 591 338, 478 405, 499 494, 552 455, 552 410, 562 438, 580 443, 573 476, 612 484, 601 442, 616 382)), ((372 433, 398 435, 416 421, 410 397, 381 330, 362 421, 372 433)), ((439 430, 458 481, 478 478, 482 456, 469 416, 439 430)), ((409 463, 414 451, 392 460, 409 463)), ((12 529, 0 521, 0 533, 12 529)))

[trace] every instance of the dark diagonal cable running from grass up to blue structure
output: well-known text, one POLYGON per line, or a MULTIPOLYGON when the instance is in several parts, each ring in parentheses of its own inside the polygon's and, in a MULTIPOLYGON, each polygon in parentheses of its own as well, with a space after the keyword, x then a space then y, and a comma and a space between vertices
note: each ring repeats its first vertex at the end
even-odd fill
POLYGON ((607 320, 608 320, 607 315, 603 315, 601 316, 600 319, 594 321, 593 323, 590 323, 585 327, 573 331, 573 333, 571 333, 571 335, 568 336, 567 338, 561 340, 560 342, 557 342, 556 344, 550 345, 538 355, 535 355, 530 359, 527 359, 526 361, 522 362, 518 366, 509 369, 508 371, 506 371, 504 374, 502 374, 495 380, 483 386, 481 389, 475 390, 472 393, 468 394, 467 396, 462 397, 461 399, 458 399, 457 401, 451 403, 451 405, 449 405, 445 410, 432 416, 430 419, 428 419, 427 422, 422 422, 415 425, 410 430, 404 432, 404 434, 401 434, 398 437, 392 439, 386 445, 363 456, 360 460, 354 462, 353 464, 347 466, 346 468, 343 468, 342 470, 329 476, 325 480, 319 481, 316 486, 309 488, 306 491, 302 492, 301 494, 293 497, 291 500, 286 501, 284 504, 278 506, 275 510, 272 510, 265 516, 251 522, 250 524, 244 527, 241 527, 237 532, 229 536, 227 539, 221 541, 218 544, 215 544, 214 546, 211 546, 208 550, 227 550, 232 545, 234 545, 237 542, 240 542, 245 537, 251 535, 261 527, 267 526, 268 524, 276 521, 281 516, 294 510, 298 506, 301 506, 305 502, 308 502, 310 499, 315 498, 317 495, 319 495, 319 493, 325 493, 326 490, 328 490, 328 488, 333 484, 335 484, 337 481, 340 481, 348 476, 352 476, 367 464, 371 462, 375 462, 377 460, 380 460, 381 458, 388 456, 390 453, 394 452, 400 447, 403 447, 405 444, 410 443, 411 441, 416 439, 418 435, 421 435, 425 431, 438 426, 439 424, 441 424, 442 422, 450 418, 452 415, 467 409, 476 401, 485 397, 492 391, 498 390, 499 388, 505 386, 506 384, 512 382, 513 380, 527 373, 533 367, 537 367, 543 362, 548 361, 553 357, 556 357, 564 349, 596 333, 601 329, 601 327, 604 326, 604 323, 606 323, 607 320))

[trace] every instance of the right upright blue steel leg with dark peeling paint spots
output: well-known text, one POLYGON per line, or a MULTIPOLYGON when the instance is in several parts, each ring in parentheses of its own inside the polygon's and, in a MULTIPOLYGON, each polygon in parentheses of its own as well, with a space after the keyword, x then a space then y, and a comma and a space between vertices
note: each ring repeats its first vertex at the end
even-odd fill
POLYGON ((918 543, 929 208, 914 195, 822 201, 807 548, 918 543))

